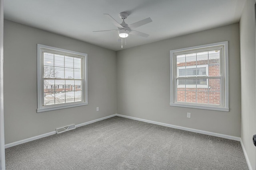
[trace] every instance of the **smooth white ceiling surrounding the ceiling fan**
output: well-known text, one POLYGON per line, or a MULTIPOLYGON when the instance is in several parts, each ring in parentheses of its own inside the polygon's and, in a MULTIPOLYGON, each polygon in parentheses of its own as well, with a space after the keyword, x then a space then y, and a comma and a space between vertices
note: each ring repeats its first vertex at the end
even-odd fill
POLYGON ((129 35, 123 49, 179 35, 211 29, 240 20, 245 0, 4 0, 4 18, 115 51, 121 50, 117 29, 103 14, 119 23, 150 17, 153 22, 134 30, 149 37, 129 35))

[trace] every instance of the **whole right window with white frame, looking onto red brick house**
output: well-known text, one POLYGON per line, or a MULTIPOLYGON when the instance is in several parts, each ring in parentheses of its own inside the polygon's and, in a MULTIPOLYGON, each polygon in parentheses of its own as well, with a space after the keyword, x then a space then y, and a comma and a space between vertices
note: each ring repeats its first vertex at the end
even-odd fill
POLYGON ((228 41, 170 51, 170 106, 229 111, 228 41))

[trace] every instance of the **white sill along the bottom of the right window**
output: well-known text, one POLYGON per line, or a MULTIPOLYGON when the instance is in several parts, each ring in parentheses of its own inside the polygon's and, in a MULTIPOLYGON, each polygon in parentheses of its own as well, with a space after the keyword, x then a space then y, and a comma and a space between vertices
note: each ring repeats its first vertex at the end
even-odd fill
POLYGON ((216 110, 216 111, 229 111, 228 107, 219 107, 219 106, 203 106, 203 105, 195 105, 195 104, 187 104, 187 103, 170 103, 170 106, 175 107, 186 107, 193 109, 205 109, 205 110, 216 110))

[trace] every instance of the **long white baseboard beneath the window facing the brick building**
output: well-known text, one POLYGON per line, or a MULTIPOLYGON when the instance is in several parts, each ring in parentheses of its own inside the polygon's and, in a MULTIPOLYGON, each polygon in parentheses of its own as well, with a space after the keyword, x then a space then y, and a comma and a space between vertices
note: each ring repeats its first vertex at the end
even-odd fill
POLYGON ((195 132, 195 133, 202 133, 202 134, 205 134, 205 135, 211 135, 211 136, 222 137, 222 138, 226 138, 226 139, 232 139, 232 140, 235 140, 235 141, 240 141, 240 137, 234 137, 234 136, 229 136, 229 135, 223 135, 223 134, 220 134, 220 133, 214 133, 214 132, 208 132, 208 131, 201 131, 201 130, 198 130, 198 129, 191 129, 191 128, 188 128, 188 127, 170 125, 170 124, 167 124, 167 123, 161 123, 161 122, 157 122, 157 121, 151 121, 151 120, 146 120, 146 119, 140 119, 140 118, 131 117, 131 116, 126 116, 126 115, 120 115, 120 114, 116 114, 116 115, 117 115, 117 116, 120 116, 120 117, 125 117, 125 118, 128 118, 128 119, 133 119, 133 120, 138 120, 138 121, 144 121, 144 122, 153 123, 153 124, 156 124, 156 125, 161 125, 161 126, 166 126, 166 127, 172 127, 172 128, 175 128, 175 129, 181 129, 181 130, 184 130, 184 131, 190 131, 190 132, 195 132))

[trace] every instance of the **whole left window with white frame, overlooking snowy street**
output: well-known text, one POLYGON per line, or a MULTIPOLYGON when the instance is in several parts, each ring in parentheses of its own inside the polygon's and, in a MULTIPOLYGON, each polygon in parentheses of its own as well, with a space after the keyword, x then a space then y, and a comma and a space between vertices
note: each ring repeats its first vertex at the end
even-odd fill
POLYGON ((38 44, 37 112, 84 106, 87 98, 87 54, 38 44))

